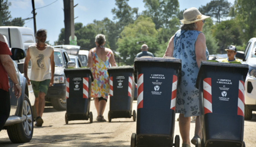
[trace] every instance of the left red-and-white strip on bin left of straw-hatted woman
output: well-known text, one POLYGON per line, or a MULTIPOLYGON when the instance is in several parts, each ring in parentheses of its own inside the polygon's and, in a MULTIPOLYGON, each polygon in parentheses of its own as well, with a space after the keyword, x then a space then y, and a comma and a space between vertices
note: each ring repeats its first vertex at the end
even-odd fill
POLYGON ((138 98, 137 109, 143 108, 143 74, 138 75, 138 98))

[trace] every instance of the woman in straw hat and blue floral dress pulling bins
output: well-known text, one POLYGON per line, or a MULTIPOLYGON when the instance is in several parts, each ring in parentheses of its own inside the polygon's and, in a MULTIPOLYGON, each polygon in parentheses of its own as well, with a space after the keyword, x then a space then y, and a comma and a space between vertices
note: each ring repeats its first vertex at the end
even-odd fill
POLYGON ((207 60, 209 53, 206 47, 205 35, 201 32, 205 19, 197 8, 189 8, 183 13, 183 25, 169 41, 166 52, 168 57, 182 60, 181 83, 177 87, 176 113, 179 114, 179 130, 182 147, 190 147, 189 130, 191 116, 197 116, 195 136, 191 140, 195 144, 201 136, 199 90, 195 87, 201 61, 207 60))

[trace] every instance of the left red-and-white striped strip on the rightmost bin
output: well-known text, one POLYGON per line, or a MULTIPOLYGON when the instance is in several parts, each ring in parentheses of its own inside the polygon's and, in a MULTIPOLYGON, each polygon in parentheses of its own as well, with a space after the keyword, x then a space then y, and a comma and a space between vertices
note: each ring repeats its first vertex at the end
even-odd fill
POLYGON ((212 78, 203 80, 204 111, 212 113, 212 78))

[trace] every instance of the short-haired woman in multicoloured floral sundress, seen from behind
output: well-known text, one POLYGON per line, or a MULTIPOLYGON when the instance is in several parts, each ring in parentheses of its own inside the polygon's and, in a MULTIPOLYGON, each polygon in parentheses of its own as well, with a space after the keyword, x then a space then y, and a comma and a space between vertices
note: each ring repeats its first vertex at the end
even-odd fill
POLYGON ((117 66, 113 51, 104 47, 106 42, 105 35, 98 34, 95 37, 96 47, 90 49, 87 66, 91 68, 94 81, 92 82, 91 97, 94 98, 94 104, 98 113, 97 121, 106 122, 103 112, 106 107, 109 94, 109 77, 107 69, 111 66, 117 66))

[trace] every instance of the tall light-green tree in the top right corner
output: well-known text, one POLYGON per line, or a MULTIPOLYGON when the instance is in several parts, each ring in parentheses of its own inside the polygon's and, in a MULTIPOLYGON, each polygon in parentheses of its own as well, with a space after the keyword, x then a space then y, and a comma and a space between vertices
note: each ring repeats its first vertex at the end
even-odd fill
POLYGON ((235 0, 236 20, 244 29, 245 40, 256 36, 256 1, 235 0))

